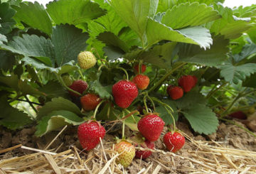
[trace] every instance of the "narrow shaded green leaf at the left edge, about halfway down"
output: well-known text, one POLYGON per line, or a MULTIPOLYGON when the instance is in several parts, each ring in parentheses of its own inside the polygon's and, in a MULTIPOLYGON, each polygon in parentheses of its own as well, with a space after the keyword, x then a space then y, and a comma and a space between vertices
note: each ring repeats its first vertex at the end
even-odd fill
POLYGON ((28 84, 27 80, 19 79, 18 75, 11 74, 11 76, 6 77, 0 76, 0 82, 13 88, 14 90, 16 90, 16 92, 22 92, 23 95, 44 95, 43 92, 40 92, 31 84, 28 84))

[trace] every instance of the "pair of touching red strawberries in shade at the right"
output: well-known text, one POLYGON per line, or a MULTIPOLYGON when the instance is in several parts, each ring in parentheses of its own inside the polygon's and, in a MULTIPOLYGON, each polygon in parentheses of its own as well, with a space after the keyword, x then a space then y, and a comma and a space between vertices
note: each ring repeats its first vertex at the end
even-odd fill
POLYGON ((190 92, 193 87, 196 86, 198 79, 195 75, 183 75, 178 80, 178 86, 170 85, 167 87, 167 93, 171 97, 171 99, 180 99, 183 97, 183 92, 190 92))

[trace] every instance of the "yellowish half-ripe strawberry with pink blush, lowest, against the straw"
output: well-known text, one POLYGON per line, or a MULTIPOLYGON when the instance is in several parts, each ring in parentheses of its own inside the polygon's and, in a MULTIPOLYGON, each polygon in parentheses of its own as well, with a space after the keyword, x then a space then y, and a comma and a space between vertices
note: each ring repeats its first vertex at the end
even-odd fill
POLYGON ((114 151, 121 154, 117 157, 117 163, 122 164, 124 168, 127 168, 132 163, 132 159, 135 156, 135 148, 132 143, 122 140, 114 145, 114 151))

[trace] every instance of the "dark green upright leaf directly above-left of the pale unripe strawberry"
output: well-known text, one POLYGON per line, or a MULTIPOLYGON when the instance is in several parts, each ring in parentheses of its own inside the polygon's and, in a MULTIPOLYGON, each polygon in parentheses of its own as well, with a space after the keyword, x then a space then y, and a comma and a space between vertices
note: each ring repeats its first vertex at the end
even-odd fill
POLYGON ((55 58, 59 66, 75 60, 77 62, 78 54, 85 50, 88 39, 87 33, 74 26, 60 25, 53 28, 52 42, 55 48, 55 58))

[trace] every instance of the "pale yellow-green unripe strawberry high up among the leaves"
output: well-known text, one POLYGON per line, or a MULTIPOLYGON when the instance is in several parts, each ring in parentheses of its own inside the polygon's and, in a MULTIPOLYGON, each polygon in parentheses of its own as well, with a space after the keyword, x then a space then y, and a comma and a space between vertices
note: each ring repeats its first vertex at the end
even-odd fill
POLYGON ((95 58, 95 55, 93 55, 90 51, 83 51, 78 55, 78 65, 82 69, 87 70, 90 67, 93 67, 96 62, 97 60, 95 58))

